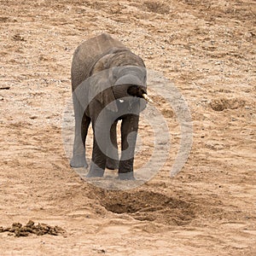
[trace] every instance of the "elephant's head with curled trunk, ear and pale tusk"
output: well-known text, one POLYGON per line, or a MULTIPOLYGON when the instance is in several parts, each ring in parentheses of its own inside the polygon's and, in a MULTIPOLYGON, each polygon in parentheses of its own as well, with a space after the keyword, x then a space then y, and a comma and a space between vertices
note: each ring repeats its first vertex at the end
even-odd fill
POLYGON ((130 51, 104 55, 96 61, 90 78, 90 93, 112 112, 119 111, 117 100, 129 102, 130 107, 139 102, 140 111, 146 108, 146 102, 140 99, 151 101, 147 95, 144 63, 130 51))

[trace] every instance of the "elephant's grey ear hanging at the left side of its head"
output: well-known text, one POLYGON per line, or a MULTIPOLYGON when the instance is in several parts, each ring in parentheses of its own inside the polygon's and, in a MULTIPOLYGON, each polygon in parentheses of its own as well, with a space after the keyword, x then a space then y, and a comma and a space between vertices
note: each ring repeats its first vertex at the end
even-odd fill
POLYGON ((113 95, 113 71, 105 69, 90 77, 90 101, 95 99, 101 102, 102 108, 109 111, 118 112, 118 107, 113 95))

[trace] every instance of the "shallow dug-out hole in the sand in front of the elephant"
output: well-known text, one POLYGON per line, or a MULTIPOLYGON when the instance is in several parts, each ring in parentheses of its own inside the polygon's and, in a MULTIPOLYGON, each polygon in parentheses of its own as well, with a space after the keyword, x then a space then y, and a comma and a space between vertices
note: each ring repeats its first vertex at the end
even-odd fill
POLYGON ((195 212, 188 202, 152 191, 109 193, 102 198, 102 206, 108 212, 129 214, 137 220, 160 224, 184 225, 195 218, 195 212))

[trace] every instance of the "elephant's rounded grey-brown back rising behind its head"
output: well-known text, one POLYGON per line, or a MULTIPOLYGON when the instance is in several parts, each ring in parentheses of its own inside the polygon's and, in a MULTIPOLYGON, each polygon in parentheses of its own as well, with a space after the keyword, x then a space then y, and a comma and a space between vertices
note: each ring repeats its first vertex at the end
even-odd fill
POLYGON ((103 55, 124 49, 127 49, 124 44, 107 33, 90 38, 80 44, 73 54, 71 67, 72 89, 75 90, 79 84, 90 77, 92 67, 103 55))

